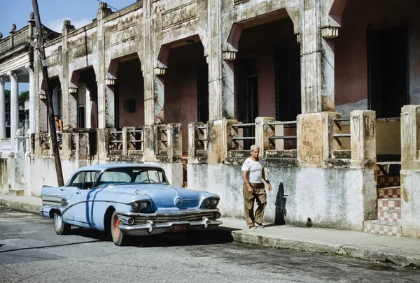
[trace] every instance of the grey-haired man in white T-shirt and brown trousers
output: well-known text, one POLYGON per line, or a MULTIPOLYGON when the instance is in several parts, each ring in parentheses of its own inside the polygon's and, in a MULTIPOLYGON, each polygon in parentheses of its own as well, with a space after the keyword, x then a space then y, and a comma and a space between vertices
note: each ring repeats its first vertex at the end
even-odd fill
POLYGON ((264 228, 262 225, 262 217, 264 217, 264 209, 266 202, 265 186, 262 179, 267 182, 268 190, 272 187, 267 177, 263 176, 264 160, 258 157, 260 147, 251 145, 251 157, 248 157, 242 165, 242 179, 244 179, 244 208, 246 225, 248 228, 264 228), (253 211, 254 202, 257 201, 257 209, 255 215, 253 211))

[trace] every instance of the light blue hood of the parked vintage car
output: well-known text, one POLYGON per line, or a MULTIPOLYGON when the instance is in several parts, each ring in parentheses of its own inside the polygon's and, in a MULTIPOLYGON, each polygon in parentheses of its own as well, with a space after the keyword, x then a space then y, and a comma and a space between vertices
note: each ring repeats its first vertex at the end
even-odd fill
POLYGON ((129 184, 120 187, 119 190, 125 194, 150 196, 155 210, 161 208, 198 208, 202 198, 202 192, 200 191, 165 184, 129 184), (176 205, 177 198, 181 198, 180 205, 176 205))

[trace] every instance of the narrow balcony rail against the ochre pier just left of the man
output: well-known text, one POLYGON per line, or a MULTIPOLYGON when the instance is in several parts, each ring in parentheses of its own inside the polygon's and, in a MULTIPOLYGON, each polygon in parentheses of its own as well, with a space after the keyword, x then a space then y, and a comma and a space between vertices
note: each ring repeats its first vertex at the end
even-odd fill
POLYGON ((190 122, 188 124, 188 162, 207 162, 207 124, 190 122))

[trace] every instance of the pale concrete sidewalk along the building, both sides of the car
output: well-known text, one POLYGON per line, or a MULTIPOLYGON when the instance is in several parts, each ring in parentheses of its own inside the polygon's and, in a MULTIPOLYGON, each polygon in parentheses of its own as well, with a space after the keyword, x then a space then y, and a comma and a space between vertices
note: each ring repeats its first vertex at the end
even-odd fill
MULTIPOLYGON (((38 213, 40 205, 41 198, 0 194, 0 207, 38 213)), ((262 229, 250 230, 243 219, 221 220, 221 227, 225 231, 231 231, 235 241, 249 245, 336 254, 398 266, 420 267, 420 239, 288 225, 266 225, 262 229)))

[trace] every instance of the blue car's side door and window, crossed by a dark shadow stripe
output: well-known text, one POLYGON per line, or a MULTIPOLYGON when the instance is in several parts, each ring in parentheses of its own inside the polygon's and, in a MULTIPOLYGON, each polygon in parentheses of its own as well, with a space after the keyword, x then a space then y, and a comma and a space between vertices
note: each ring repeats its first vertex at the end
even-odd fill
POLYGON ((94 227, 93 209, 97 189, 93 189, 99 172, 86 171, 83 178, 83 186, 74 195, 74 220, 82 226, 94 227))

